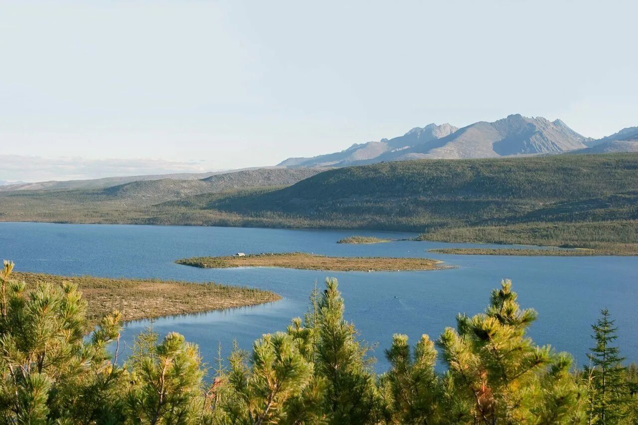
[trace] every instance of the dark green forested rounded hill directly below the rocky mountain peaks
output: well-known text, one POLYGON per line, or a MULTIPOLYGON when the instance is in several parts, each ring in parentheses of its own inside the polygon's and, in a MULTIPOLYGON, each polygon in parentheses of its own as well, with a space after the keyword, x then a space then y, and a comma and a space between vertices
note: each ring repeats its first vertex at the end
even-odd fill
POLYGON ((547 205, 636 190, 636 154, 420 160, 337 168, 281 190, 215 200, 209 207, 424 228, 459 220, 518 220, 547 205))

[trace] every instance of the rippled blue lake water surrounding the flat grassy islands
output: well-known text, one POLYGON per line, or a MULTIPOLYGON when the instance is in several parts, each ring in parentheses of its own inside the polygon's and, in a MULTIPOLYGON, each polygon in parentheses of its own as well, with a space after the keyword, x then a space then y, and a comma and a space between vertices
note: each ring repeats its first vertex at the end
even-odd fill
MULTIPOLYGON (((251 348, 263 333, 283 331, 290 318, 302 316, 315 281, 339 280, 346 318, 361 337, 376 343, 376 368, 387 362, 383 349, 392 334, 421 334, 435 339, 455 325, 459 312, 474 315, 489 302, 489 292, 503 278, 514 281, 523 307, 538 311, 530 334, 541 345, 571 352, 586 362, 591 327, 600 308, 610 309, 618 326, 618 345, 628 361, 638 361, 638 257, 498 257, 427 253, 430 248, 478 246, 399 241, 337 244, 352 235, 410 237, 394 232, 283 230, 134 225, 64 225, 0 223, 0 257, 18 271, 66 276, 90 274, 112 278, 162 278, 216 281, 277 292, 283 299, 260 306, 159 318, 155 331, 176 331, 199 345, 212 362, 221 341, 228 354, 232 341, 251 348), (198 269, 174 263, 177 258, 246 253, 305 251, 358 257, 428 257, 456 269, 418 272, 322 272, 277 268, 198 269)), ((487 246, 487 245, 481 245, 487 246)), ((146 320, 126 324, 122 339, 130 345, 146 320)))

